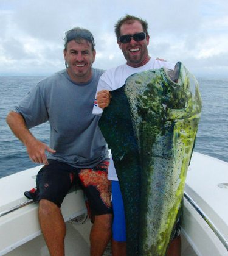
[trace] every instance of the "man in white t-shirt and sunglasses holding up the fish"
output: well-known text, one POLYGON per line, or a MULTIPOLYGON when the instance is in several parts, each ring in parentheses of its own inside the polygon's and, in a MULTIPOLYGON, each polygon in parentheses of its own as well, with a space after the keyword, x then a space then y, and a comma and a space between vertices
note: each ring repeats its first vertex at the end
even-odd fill
MULTIPOLYGON (((174 64, 157 59, 151 59, 148 54, 150 36, 147 32, 148 24, 135 16, 126 15, 117 21, 115 32, 117 43, 122 50, 126 63, 116 68, 109 69, 102 74, 98 82, 97 96, 94 101, 93 113, 101 115, 103 108, 109 105, 111 95, 109 91, 116 90, 125 84, 125 80, 131 74, 158 69, 164 66, 174 69, 174 64)), ((108 179, 112 180, 112 205, 114 210, 114 222, 112 224, 112 255, 126 255, 126 228, 123 200, 119 182, 114 168, 112 157, 110 160, 108 179)), ((167 255, 181 255, 181 240, 179 237, 179 224, 176 236, 170 243, 167 255)))

